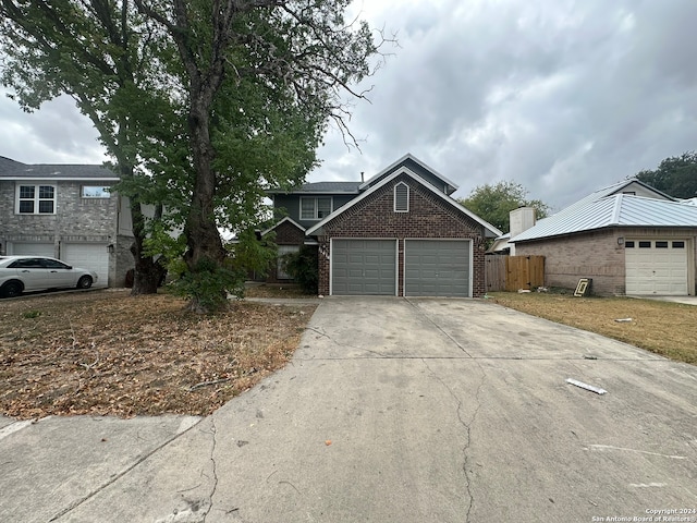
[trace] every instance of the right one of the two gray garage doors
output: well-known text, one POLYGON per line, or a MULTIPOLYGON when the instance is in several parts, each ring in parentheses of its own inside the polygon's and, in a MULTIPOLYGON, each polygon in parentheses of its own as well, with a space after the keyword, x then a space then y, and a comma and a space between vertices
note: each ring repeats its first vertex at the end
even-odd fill
POLYGON ((405 240, 404 295, 469 297, 469 240, 405 240))

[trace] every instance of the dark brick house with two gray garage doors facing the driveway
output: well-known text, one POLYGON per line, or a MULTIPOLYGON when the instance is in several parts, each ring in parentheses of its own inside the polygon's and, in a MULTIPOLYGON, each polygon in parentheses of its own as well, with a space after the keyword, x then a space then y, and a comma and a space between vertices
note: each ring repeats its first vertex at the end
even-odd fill
MULTIPOLYGON (((450 195, 457 186, 406 155, 368 181, 271 191, 280 253, 318 250, 319 293, 481 296, 485 240, 501 234, 450 195)), ((282 264, 271 281, 283 281, 282 264)))

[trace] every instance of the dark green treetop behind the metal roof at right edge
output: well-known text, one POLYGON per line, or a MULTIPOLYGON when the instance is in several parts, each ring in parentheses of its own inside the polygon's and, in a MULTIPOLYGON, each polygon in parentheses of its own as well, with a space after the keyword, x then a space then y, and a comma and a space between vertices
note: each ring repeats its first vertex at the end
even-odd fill
POLYGON ((644 170, 636 178, 675 198, 697 196, 697 153, 665 158, 655 170, 644 170))

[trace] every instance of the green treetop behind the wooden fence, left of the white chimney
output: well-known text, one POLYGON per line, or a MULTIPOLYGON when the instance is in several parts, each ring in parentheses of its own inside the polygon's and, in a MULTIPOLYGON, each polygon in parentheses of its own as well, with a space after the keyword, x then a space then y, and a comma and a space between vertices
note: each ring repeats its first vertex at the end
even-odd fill
POLYGON ((510 212, 518 207, 533 207, 538 219, 547 217, 550 211, 543 202, 527 199, 527 190, 513 181, 479 185, 458 202, 502 232, 511 230, 510 212))

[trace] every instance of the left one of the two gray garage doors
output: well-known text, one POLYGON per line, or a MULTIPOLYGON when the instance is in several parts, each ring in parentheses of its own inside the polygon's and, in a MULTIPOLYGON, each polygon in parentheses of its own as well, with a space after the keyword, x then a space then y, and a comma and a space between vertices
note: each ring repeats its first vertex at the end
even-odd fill
POLYGON ((332 240, 332 294, 396 295, 396 240, 332 240))

